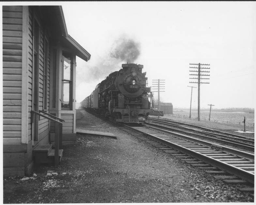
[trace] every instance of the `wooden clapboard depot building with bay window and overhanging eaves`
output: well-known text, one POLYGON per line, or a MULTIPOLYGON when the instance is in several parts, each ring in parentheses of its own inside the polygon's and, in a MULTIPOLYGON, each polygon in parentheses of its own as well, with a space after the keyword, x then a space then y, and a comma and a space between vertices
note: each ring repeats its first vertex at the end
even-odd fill
POLYGON ((76 56, 61 6, 3 6, 3 174, 57 166, 76 133, 76 56))

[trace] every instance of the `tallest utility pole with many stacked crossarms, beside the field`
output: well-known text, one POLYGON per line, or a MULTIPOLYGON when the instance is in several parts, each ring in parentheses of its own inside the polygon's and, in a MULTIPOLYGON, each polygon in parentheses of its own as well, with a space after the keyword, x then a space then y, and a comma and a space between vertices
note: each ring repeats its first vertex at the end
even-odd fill
MULTIPOLYGON (((189 83, 197 83, 198 84, 198 121, 200 121, 200 84, 205 83, 201 80, 203 79, 210 79, 210 78, 202 78, 201 76, 210 76, 209 74, 202 74, 202 73, 210 73, 210 71, 205 71, 203 69, 210 69, 201 67, 201 65, 210 65, 210 64, 203 64, 203 63, 189 63, 189 65, 197 65, 198 67, 189 67, 189 68, 196 68, 198 70, 189 70, 189 72, 196 72, 197 74, 189 74, 189 75, 196 75, 195 77, 189 79, 197 79, 197 82, 189 82, 189 83), (201 70, 202 69, 202 70, 201 70)), ((209 82, 206 82, 209 84, 209 82)))

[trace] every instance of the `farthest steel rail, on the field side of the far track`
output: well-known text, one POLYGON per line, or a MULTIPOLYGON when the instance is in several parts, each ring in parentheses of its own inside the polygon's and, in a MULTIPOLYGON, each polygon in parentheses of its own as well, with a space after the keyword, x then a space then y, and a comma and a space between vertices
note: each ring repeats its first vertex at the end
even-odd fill
MULTIPOLYGON (((170 122, 170 123, 173 122, 173 123, 188 125, 188 126, 191 126, 191 127, 196 127, 196 128, 200 128, 200 129, 210 130, 210 131, 212 131, 212 132, 219 132, 219 133, 222 133, 222 134, 219 134, 219 133, 214 133, 214 134, 218 134, 218 135, 221 135, 221 136, 230 135, 230 136, 233 136, 233 137, 237 137, 237 138, 239 138, 239 139, 245 139, 245 140, 254 141, 253 138, 244 137, 244 136, 242 136, 242 135, 232 134, 232 133, 229 133, 229 132, 223 132, 223 131, 219 131, 219 130, 214 130, 214 129, 211 129, 211 128, 200 127, 200 126, 192 125, 192 124, 188 124, 188 123, 177 122, 177 121, 166 120, 166 119, 157 119, 157 118, 154 118, 154 117, 148 117, 147 119, 149 119, 149 120, 155 120, 155 121, 158 121, 158 122, 163 122, 163 121, 164 121, 164 122, 170 122)), ((177 125, 177 124, 174 124, 174 125, 179 126, 179 127, 183 127, 183 126, 180 126, 180 125, 177 125)))

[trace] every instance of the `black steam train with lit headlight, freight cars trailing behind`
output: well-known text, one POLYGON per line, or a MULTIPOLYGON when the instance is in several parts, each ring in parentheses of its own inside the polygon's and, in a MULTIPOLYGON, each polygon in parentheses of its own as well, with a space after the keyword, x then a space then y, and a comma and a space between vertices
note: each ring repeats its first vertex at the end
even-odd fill
POLYGON ((140 64, 122 64, 122 69, 101 81, 81 106, 116 122, 142 123, 153 111, 153 101, 148 97, 151 90, 146 87, 146 72, 142 73, 142 68, 140 64))

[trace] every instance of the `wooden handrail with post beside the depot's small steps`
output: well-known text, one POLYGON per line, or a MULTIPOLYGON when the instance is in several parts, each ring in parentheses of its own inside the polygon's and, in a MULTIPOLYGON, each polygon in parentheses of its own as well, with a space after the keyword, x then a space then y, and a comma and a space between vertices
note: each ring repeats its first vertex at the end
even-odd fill
POLYGON ((41 113, 38 113, 35 110, 31 110, 31 122, 33 122, 34 114, 55 122, 54 165, 57 167, 59 165, 59 148, 62 148, 62 125, 63 125, 63 123, 56 120, 56 119, 53 119, 52 117, 48 117, 48 116, 45 116, 41 113))

